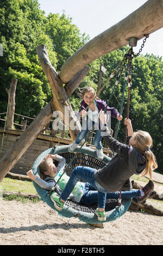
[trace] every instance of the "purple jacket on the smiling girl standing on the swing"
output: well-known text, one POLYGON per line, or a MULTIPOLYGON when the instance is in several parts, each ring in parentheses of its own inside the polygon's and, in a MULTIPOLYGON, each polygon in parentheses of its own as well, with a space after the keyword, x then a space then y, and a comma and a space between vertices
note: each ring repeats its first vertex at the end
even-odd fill
MULTIPOLYGON (((96 102, 97 102, 98 113, 99 111, 104 110, 106 108, 105 100, 96 99, 96 102)), ((84 100, 82 100, 79 112, 82 111, 83 109, 86 109, 86 107, 87 107, 87 104, 85 103, 84 100)), ((110 108, 109 106, 107 106, 106 111, 110 111, 111 116, 114 118, 117 118, 117 115, 120 115, 120 113, 115 108, 110 108)))

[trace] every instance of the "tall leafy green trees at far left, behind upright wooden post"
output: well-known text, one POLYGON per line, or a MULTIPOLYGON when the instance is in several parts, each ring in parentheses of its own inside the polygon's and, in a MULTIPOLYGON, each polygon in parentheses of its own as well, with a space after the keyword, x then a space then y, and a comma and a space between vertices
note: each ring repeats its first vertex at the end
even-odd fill
POLYGON ((5 88, 16 78, 16 112, 37 115, 52 98, 51 89, 40 67, 36 47, 46 44, 53 66, 57 64, 53 42, 45 34, 46 17, 34 0, 7 0, 0 3, 0 41, 3 44, 0 75, 1 110, 6 111, 5 88))

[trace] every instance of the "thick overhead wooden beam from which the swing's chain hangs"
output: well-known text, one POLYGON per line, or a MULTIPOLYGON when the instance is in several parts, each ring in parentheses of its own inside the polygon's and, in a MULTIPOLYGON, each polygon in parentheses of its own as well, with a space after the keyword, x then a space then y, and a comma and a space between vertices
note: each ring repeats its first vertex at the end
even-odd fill
POLYGON ((163 0, 148 0, 139 9, 90 40, 68 58, 61 67, 60 80, 65 84, 90 62, 127 45, 129 38, 142 39, 144 34, 151 34, 162 26, 163 0))

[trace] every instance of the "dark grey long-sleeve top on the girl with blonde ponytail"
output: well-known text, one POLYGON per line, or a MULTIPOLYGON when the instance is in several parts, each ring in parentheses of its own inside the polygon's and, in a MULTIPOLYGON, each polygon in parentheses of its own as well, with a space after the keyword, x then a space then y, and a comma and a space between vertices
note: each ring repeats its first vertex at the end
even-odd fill
POLYGON ((102 169, 95 171, 96 181, 106 190, 116 192, 118 190, 130 190, 130 177, 140 174, 146 167, 146 158, 133 146, 122 144, 110 135, 108 127, 102 126, 104 140, 116 156, 102 169))

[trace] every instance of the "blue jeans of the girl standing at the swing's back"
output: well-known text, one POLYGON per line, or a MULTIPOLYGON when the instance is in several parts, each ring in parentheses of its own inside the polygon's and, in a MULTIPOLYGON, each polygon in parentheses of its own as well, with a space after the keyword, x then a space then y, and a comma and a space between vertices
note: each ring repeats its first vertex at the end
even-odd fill
POLYGON ((98 150, 100 150, 102 148, 102 143, 101 143, 101 139, 102 139, 102 135, 101 135, 101 130, 97 129, 97 123, 93 122, 92 120, 90 120, 89 118, 87 118, 87 120, 85 121, 85 123, 83 124, 82 130, 81 132, 78 134, 77 138, 76 138, 76 144, 79 144, 87 135, 87 133, 89 132, 90 129, 92 129, 92 125, 95 125, 95 137, 93 139, 93 144, 96 146, 96 148, 98 150))

